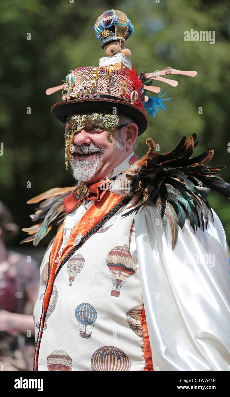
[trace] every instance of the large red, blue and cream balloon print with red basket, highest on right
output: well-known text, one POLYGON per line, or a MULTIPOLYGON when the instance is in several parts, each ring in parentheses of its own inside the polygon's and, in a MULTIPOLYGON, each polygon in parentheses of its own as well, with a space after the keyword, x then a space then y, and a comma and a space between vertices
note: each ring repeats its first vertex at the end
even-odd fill
POLYGON ((111 295, 119 297, 122 285, 137 271, 136 264, 127 245, 120 245, 109 252, 107 255, 107 266, 113 281, 111 295))

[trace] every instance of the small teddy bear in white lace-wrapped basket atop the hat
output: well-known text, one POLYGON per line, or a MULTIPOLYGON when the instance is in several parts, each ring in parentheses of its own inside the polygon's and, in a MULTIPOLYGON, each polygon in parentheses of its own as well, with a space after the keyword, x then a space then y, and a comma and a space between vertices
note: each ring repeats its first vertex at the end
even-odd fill
POLYGON ((129 59, 131 51, 128 48, 121 49, 119 41, 112 41, 104 46, 105 54, 99 59, 99 67, 111 66, 113 70, 123 70, 126 67, 132 69, 129 59))

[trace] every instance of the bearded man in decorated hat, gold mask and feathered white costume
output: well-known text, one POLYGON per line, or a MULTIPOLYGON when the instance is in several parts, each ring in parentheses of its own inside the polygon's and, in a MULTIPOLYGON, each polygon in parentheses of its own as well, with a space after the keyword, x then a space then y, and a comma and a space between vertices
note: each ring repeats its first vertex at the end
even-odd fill
MULTIPOLYGON (((124 40, 101 29, 103 45, 124 40)), ((165 105, 146 98, 148 75, 121 67, 75 69, 51 108, 78 182, 29 201, 45 200, 24 241, 58 228, 41 264, 34 370, 228 371, 226 238, 199 187, 229 197, 229 185, 207 164, 213 151, 191 158, 196 134, 165 154, 149 138, 138 159, 136 138, 165 105)))

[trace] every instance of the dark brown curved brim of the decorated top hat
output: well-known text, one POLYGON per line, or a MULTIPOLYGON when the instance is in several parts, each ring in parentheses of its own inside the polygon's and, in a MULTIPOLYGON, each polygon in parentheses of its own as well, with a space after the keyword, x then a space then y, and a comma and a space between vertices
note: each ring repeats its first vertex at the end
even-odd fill
POLYGON ((114 108, 116 108, 117 113, 126 114, 134 120, 138 126, 138 135, 141 135, 148 127, 148 117, 144 110, 117 97, 113 96, 111 98, 111 95, 97 94, 93 98, 61 101, 51 107, 51 113, 56 119, 65 124, 67 114, 85 111, 98 112, 101 110, 112 113, 114 108))

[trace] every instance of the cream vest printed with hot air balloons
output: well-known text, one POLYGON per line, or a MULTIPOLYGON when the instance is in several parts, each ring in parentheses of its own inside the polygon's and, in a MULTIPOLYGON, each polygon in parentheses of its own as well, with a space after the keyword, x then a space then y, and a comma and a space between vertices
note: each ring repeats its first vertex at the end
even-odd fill
MULTIPOLYGON (((134 214, 115 214, 62 266, 55 279, 38 371, 144 371, 142 289, 130 254, 134 214)), ((41 317, 49 251, 41 264, 41 317)), ((37 332, 35 331, 35 338, 37 332)))

